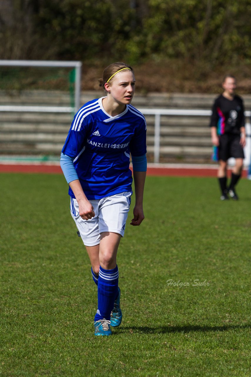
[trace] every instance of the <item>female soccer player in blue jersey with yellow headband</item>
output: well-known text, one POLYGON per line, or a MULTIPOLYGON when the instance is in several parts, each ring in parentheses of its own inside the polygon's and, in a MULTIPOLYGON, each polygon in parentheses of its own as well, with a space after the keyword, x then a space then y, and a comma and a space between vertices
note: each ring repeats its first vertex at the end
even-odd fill
POLYGON ((87 102, 76 113, 61 153, 61 168, 69 184, 71 216, 76 222, 97 285, 94 334, 111 335, 119 326, 119 271, 116 262, 132 195, 132 156, 135 207, 131 225, 144 219, 146 121, 130 103, 135 91, 132 67, 106 67, 100 86, 106 96, 87 102))

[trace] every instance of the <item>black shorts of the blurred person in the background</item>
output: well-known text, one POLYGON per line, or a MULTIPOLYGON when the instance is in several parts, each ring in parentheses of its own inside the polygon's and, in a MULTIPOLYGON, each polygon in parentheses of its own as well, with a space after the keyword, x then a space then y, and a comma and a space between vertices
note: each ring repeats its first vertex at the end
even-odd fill
POLYGON ((219 160, 227 161, 230 157, 244 158, 240 135, 224 133, 219 136, 219 160))

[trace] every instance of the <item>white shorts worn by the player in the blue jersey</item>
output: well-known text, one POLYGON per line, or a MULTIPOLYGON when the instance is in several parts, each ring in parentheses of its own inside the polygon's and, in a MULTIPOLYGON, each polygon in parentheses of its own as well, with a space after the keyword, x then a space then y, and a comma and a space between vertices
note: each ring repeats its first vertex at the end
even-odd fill
POLYGON ((130 209, 132 192, 122 192, 106 198, 90 200, 95 216, 84 220, 79 216, 76 199, 71 198, 70 210, 85 246, 100 242, 100 233, 113 232, 124 236, 125 224, 130 209))

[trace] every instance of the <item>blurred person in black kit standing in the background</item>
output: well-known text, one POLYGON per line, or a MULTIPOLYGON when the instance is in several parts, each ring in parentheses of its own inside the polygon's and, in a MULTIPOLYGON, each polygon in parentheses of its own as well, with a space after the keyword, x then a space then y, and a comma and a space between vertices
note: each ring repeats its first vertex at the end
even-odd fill
POLYGON ((226 75, 222 84, 224 92, 216 98, 211 115, 211 140, 217 149, 219 161, 218 179, 221 187, 221 200, 237 200, 235 185, 240 179, 245 147, 245 116, 242 99, 235 95, 236 80, 226 75), (234 157, 236 164, 232 170, 230 185, 227 186, 227 160, 234 157))

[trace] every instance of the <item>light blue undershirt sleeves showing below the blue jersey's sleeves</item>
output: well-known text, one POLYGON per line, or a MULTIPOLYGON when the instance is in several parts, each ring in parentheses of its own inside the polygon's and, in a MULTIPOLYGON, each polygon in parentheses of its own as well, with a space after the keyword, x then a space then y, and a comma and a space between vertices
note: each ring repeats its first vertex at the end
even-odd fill
MULTIPOLYGON (((62 172, 64 173, 67 183, 70 183, 71 181, 75 181, 75 179, 78 179, 78 174, 76 172, 73 161, 74 161, 73 157, 70 157, 70 156, 64 155, 64 153, 61 153, 60 166, 61 166, 62 172)), ((146 168, 147 168, 146 155, 132 156, 132 167, 133 167, 134 172, 146 172, 146 168)))

